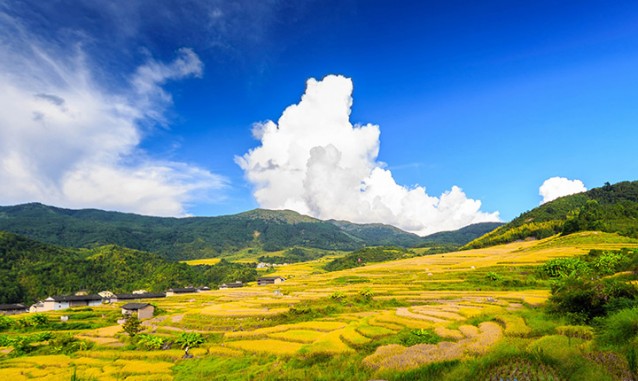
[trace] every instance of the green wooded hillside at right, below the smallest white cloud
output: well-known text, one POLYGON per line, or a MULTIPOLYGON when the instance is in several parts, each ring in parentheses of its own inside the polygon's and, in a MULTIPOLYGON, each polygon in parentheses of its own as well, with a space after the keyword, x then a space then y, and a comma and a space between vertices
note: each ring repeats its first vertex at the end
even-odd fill
POLYGON ((561 197, 521 214, 463 248, 480 248, 587 230, 637 238, 638 181, 605 184, 584 193, 561 197))

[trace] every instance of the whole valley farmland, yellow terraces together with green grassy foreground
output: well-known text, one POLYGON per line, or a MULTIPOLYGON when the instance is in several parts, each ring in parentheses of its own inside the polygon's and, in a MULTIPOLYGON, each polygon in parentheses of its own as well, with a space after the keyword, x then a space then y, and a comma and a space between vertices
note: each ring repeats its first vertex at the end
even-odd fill
MULTIPOLYGON (((565 328, 569 321, 546 312, 551 280, 538 272, 548 260, 621 248, 638 248, 638 240, 583 232, 343 271, 326 272, 326 258, 278 266, 268 276, 285 277, 282 284, 152 300, 160 313, 143 322, 140 335, 173 342, 170 349, 131 340, 115 324, 116 303, 65 311, 67 323, 86 323, 65 331, 82 343, 77 350, 56 352, 46 340, 22 355, 0 348, 0 375, 14 381, 629 379, 622 377, 631 377, 631 364, 598 347, 591 329, 565 328), (203 338, 190 349, 192 358, 182 358, 184 333, 203 338)), ((53 322, 60 315, 46 316, 53 322)))

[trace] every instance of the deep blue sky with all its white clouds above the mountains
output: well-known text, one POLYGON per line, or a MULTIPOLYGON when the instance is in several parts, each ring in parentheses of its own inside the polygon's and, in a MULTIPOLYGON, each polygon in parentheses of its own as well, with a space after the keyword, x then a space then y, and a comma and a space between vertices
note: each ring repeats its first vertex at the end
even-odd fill
POLYGON ((0 0, 0 205, 420 235, 636 180, 632 1, 0 0))

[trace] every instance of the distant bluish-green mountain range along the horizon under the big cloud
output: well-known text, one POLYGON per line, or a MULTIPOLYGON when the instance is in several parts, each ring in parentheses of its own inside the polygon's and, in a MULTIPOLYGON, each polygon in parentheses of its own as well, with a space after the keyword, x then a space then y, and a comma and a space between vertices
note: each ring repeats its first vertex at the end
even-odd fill
POLYGON ((70 210, 38 203, 0 207, 0 231, 58 246, 118 245, 172 260, 218 257, 245 248, 277 251, 290 247, 356 250, 365 246, 457 247, 494 228, 477 225, 450 242, 419 237, 389 225, 321 221, 283 210, 256 209, 220 217, 165 218, 97 209, 70 210))

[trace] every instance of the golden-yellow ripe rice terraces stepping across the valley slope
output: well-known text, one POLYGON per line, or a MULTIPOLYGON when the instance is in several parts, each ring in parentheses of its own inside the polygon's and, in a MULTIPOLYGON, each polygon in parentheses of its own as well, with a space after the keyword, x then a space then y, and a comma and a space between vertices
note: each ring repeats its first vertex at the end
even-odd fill
MULTIPOLYGON (((580 255, 592 248, 638 247, 634 242, 609 243, 610 240, 597 244, 586 235, 583 241, 572 237, 571 241, 551 238, 516 242, 333 273, 320 270, 323 262, 282 266, 272 274, 287 277, 282 284, 247 285, 157 299, 154 302, 166 313, 145 322, 144 328, 146 333, 163 337, 185 331, 214 337, 191 351, 196 359, 221 361, 257 356, 262 362, 285 364, 315 355, 351 356, 365 379, 377 372, 465 361, 485 354, 504 338, 529 335, 531 328, 519 312, 541 305, 549 296, 547 287, 496 289, 485 282, 485 287, 477 287, 475 279, 484 279, 494 271, 520 275, 521 269, 528 268, 533 274, 533 266, 548 259, 580 255), (373 292, 372 300, 379 307, 366 309, 354 302, 365 290, 373 292), (304 317, 304 308, 325 304, 337 292, 345 297, 337 312, 304 317), (299 315, 294 315, 294 311, 299 315), (286 320, 294 316, 305 321, 286 320), (485 321, 483 316, 490 318, 485 321), (417 345, 391 342, 393 337, 410 330, 432 331, 441 341, 417 345), (362 350, 368 354, 358 356, 362 350), (259 357, 264 355, 274 357, 259 357)), ((119 326, 112 326, 76 332, 78 338, 95 343, 95 347, 72 357, 11 359, 4 355, 0 358, 0 375, 11 381, 69 380, 76 371, 87 380, 172 380, 178 374, 176 364, 192 361, 182 360, 183 352, 176 347, 156 351, 126 349, 119 331, 119 326)), ((241 379, 232 378, 230 373, 224 377, 241 379)))

